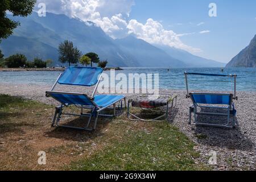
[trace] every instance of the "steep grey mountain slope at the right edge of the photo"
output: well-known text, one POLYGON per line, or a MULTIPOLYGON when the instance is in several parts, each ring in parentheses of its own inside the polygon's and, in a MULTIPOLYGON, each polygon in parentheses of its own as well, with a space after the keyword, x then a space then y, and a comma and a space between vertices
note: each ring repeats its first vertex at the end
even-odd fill
POLYGON ((249 46, 238 53, 226 67, 256 67, 256 35, 249 46))

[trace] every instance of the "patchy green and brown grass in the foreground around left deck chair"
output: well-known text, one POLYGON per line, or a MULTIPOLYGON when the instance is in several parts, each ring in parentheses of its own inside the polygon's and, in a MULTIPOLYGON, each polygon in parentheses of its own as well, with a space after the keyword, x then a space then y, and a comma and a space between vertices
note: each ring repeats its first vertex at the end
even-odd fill
MULTIPOLYGON (((80 112, 75 107, 69 108, 69 111, 80 112)), ((57 169, 208 169, 203 164, 195 163, 195 159, 200 155, 193 150, 194 143, 168 122, 129 121, 124 111, 114 119, 101 118, 97 130, 93 133, 82 133, 76 130, 51 131, 49 121, 53 113, 53 106, 20 97, 0 95, 0 135, 3 140, 5 137, 14 137, 15 142, 19 141, 19 138, 26 141, 31 140, 30 131, 38 131, 38 134, 43 134, 44 140, 40 142, 46 146, 44 151, 56 156, 56 159, 52 160, 59 160, 58 155, 67 159, 67 163, 58 164, 60 166, 57 169), (44 133, 48 133, 49 137, 45 137, 44 133), (48 146, 49 138, 52 140, 51 147, 48 146), (67 143, 55 146, 53 141, 59 142, 59 138, 66 138, 67 143), (80 154, 83 155, 80 156, 80 154)), ((36 137, 38 136, 35 135, 36 137)), ((4 140, 6 145, 10 141, 10 139, 4 140)), ((27 164, 30 164, 30 156, 38 152, 33 151, 32 147, 36 146, 36 143, 30 143, 30 145, 29 147, 20 145, 16 149, 26 154, 23 157, 26 158, 27 164)), ((9 147, 13 148, 11 144, 9 147)), ((7 151, 2 152, 5 152, 3 155, 6 155, 6 163, 10 163, 9 168, 24 169, 24 165, 16 162, 7 151)))

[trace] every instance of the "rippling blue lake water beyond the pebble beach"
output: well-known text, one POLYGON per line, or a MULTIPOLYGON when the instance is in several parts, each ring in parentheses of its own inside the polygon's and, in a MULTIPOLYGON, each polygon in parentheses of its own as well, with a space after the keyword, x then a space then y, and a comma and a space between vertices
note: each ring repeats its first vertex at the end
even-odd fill
MULTIPOLYGON (((199 73, 237 74, 237 90, 256 91, 256 68, 124 68, 117 73, 159 73, 159 87, 185 89, 184 71, 199 73)), ((108 73, 109 72, 105 72, 108 73)), ((22 84, 53 84, 60 72, 0 72, 0 82, 22 84)), ((201 90, 232 90, 229 77, 188 76, 189 88, 201 90)))

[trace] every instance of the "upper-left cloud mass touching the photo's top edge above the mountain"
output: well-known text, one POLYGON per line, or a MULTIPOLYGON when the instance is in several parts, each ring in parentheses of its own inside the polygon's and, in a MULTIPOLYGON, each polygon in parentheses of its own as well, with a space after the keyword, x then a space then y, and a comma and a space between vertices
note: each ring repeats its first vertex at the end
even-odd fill
POLYGON ((134 0, 38 0, 46 3, 48 12, 92 21, 112 38, 127 35, 126 19, 134 0))

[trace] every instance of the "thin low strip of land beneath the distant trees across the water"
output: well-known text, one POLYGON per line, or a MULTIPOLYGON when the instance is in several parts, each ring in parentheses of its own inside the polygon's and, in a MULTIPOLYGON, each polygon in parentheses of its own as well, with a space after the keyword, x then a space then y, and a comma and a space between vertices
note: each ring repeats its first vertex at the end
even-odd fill
MULTIPOLYGON (((103 68, 104 71, 115 69, 115 71, 123 70, 122 68, 103 68)), ((35 72, 35 71, 64 71, 65 68, 0 68, 0 72, 35 72)))

